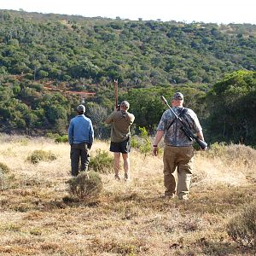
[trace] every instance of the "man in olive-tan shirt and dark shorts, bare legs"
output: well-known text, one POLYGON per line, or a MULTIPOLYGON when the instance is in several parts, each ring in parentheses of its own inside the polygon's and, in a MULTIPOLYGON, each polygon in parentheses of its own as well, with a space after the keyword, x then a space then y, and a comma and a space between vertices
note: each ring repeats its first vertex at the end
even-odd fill
POLYGON ((131 152, 131 131, 130 127, 134 122, 134 115, 128 112, 129 102, 121 102, 120 110, 110 113, 105 120, 106 124, 112 124, 110 151, 113 152, 114 174, 115 178, 120 180, 120 154, 124 160, 125 181, 130 179, 130 160, 131 152))

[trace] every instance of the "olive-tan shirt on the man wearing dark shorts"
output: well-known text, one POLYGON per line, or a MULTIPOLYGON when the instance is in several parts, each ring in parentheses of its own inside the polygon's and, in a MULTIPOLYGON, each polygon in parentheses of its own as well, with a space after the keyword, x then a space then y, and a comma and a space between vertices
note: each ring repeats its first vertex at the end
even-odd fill
POLYGON ((111 141, 113 143, 124 142, 131 136, 130 127, 135 117, 132 113, 123 110, 113 111, 105 120, 106 124, 113 124, 111 127, 111 141))

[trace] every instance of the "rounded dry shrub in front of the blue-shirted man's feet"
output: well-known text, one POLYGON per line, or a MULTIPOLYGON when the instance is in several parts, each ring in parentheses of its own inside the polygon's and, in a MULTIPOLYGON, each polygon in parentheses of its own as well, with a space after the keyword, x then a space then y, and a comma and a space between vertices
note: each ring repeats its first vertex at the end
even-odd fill
POLYGON ((71 194, 78 196, 80 200, 97 197, 102 191, 102 178, 96 172, 80 172, 67 183, 71 194))

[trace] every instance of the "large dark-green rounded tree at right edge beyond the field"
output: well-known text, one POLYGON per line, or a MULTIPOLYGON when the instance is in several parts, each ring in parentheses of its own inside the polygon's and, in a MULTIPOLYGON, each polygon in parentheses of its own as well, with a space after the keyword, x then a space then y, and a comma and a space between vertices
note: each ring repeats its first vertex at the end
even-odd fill
POLYGON ((256 144, 256 72, 237 71, 207 93, 207 130, 218 142, 256 144))

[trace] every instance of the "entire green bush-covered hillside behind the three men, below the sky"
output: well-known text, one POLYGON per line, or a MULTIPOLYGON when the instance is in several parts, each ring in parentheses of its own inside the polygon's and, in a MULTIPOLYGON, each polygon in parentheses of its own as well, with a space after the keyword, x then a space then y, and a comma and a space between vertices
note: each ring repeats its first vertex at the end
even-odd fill
POLYGON ((119 102, 154 134, 175 90, 210 143, 255 146, 256 26, 115 20, 0 10, 0 131, 67 133, 80 102, 96 137, 119 102), (220 115, 221 114, 221 115, 220 115))

